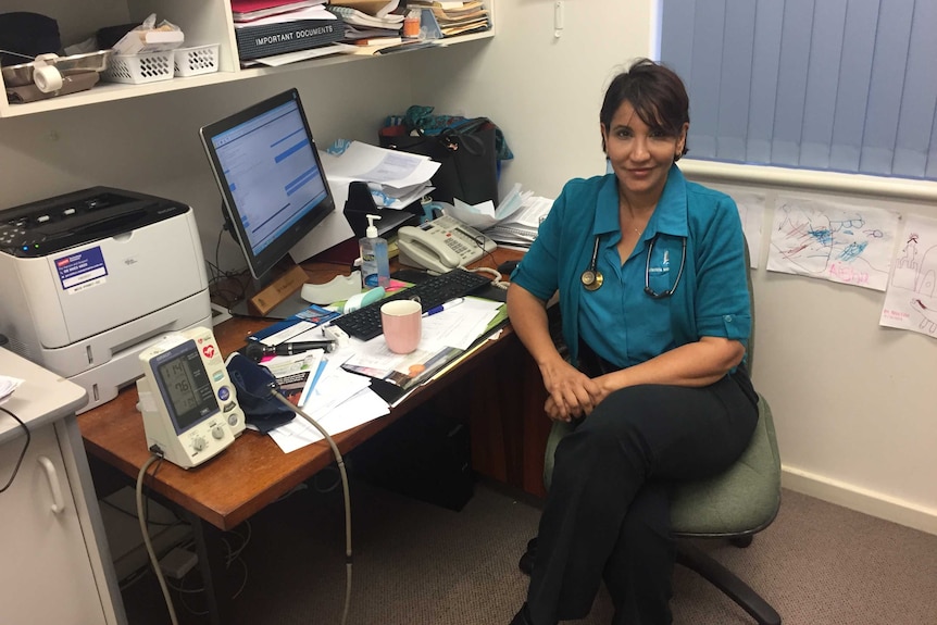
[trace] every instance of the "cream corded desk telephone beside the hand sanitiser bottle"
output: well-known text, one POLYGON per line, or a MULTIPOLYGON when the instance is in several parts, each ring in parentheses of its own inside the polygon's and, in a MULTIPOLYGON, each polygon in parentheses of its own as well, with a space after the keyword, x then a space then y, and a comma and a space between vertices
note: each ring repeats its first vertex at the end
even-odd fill
POLYGON ((475 228, 448 215, 397 232, 400 264, 437 273, 467 265, 497 247, 475 228))

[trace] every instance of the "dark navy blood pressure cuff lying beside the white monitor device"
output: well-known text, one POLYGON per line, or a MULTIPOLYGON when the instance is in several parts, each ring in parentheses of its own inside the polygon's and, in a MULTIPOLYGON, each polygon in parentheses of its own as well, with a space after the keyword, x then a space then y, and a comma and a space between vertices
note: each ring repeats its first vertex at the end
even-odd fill
POLYGON ((248 425, 266 434, 296 417, 293 411, 271 395, 271 389, 279 391, 279 384, 268 368, 238 352, 230 354, 225 364, 248 425))

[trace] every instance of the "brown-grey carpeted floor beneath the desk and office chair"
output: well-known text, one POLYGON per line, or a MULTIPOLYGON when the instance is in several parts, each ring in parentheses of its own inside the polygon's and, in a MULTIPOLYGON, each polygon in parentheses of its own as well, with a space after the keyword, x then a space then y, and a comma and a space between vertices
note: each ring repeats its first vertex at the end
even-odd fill
MULTIPOLYGON (((328 475, 324 476, 328 479, 328 475)), ((539 510, 478 484, 461 512, 352 483, 353 591, 349 625, 507 625, 524 600, 516 562, 539 510)), ((338 624, 345 597, 340 489, 313 486, 250 522, 233 561, 237 622, 338 624), (245 573, 247 578, 245 579, 245 573)), ((237 551, 247 525, 232 535, 237 551)), ((702 546, 748 580, 785 625, 937 625, 937 536, 785 491, 780 514, 748 549, 702 546)), ((185 580, 195 588, 197 575, 185 580)), ((180 623, 207 623, 198 592, 174 592, 180 623)), ((151 574, 124 591, 130 625, 168 623, 151 574)), ((696 574, 677 567, 676 625, 744 625, 751 618, 696 574)), ((579 624, 608 624, 600 595, 579 624)))

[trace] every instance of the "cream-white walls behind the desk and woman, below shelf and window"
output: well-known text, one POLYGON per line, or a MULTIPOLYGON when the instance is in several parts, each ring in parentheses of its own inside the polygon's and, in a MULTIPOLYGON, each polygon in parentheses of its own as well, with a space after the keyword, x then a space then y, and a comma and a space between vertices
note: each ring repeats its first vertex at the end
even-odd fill
MULTIPOLYGON (((220 200, 197 130, 293 85, 320 145, 374 141, 383 116, 411 103, 487 115, 515 153, 502 189, 517 182, 554 197, 566 179, 604 171, 601 97, 617 67, 650 54, 652 8, 566 0, 557 39, 552 0, 500 0, 492 40, 0 120, 0 208, 99 184, 162 195, 196 209, 213 259, 220 200)), ((778 190, 758 188, 770 199, 778 190)), ((921 202, 797 191, 937 213, 921 202)), ((242 265, 228 237, 222 264, 242 265)), ((879 328, 882 293, 865 289, 760 268, 755 300, 753 375, 774 409, 786 484, 937 534, 934 339, 879 328)))

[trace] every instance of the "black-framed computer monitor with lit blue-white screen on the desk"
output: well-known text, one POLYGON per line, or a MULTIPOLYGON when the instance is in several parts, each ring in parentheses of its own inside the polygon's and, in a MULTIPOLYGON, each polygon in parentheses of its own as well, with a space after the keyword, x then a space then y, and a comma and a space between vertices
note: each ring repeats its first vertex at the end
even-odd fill
POLYGON ((335 210, 296 89, 200 130, 251 275, 268 272, 335 210))

